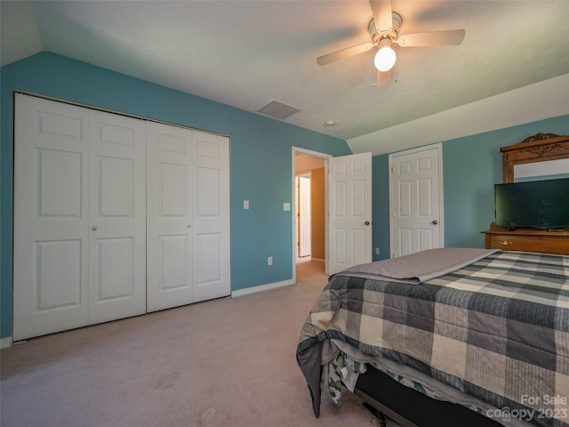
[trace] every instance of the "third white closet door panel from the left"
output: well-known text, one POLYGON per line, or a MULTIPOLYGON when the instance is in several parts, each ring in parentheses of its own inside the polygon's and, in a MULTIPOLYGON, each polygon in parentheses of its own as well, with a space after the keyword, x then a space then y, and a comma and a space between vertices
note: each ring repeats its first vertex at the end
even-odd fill
POLYGON ((193 302, 192 131, 147 124, 147 307, 193 302))

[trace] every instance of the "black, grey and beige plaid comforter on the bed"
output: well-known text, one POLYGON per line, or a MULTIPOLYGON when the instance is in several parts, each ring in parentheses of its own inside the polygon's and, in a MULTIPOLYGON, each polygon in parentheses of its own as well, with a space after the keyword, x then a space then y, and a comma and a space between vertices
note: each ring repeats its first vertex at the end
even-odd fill
POLYGON ((422 283, 359 276, 333 276, 301 330, 316 416, 333 339, 482 399, 499 422, 569 425, 569 256, 496 252, 422 283))

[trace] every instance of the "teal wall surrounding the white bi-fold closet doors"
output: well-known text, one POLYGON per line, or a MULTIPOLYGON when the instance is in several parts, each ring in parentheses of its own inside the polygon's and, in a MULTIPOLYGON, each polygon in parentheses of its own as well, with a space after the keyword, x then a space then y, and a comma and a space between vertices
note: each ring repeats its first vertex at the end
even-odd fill
POLYGON ((292 147, 351 154, 341 139, 49 52, 0 68, 0 77, 0 337, 12 335, 12 90, 229 135, 232 291, 293 278, 292 216, 283 211, 293 202, 292 147))

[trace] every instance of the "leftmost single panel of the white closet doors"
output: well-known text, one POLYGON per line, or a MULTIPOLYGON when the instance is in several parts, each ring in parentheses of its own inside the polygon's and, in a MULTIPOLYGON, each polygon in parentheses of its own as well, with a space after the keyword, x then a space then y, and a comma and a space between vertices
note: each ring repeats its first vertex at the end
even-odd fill
POLYGON ((89 113, 16 94, 13 340, 88 323, 89 113))

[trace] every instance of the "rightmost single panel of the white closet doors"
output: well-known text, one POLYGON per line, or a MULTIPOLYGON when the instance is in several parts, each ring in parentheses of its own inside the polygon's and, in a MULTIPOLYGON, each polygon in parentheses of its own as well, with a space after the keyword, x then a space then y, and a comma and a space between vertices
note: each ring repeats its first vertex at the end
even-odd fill
POLYGON ((229 140, 194 132, 194 301, 231 293, 229 140))

